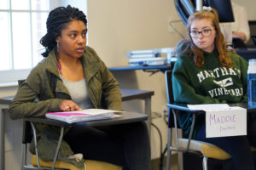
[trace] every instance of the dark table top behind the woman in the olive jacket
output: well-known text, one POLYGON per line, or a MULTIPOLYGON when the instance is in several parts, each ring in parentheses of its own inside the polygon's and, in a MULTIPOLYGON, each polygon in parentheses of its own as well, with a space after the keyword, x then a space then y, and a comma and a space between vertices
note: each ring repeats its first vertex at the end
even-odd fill
MULTIPOLYGON (((137 89, 120 89, 122 94, 122 101, 127 101, 131 99, 143 99, 154 95, 154 91, 150 90, 137 90, 137 89)), ((0 105, 9 105, 14 97, 0 98, 0 105)))

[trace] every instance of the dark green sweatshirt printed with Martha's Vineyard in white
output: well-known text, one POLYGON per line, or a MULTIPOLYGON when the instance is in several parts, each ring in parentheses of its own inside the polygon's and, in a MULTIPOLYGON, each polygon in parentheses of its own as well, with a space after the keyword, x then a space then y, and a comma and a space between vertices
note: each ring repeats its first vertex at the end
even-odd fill
MULTIPOLYGON (((204 52, 205 63, 200 68, 186 54, 177 56, 172 71, 175 102, 186 104, 221 104, 247 102, 247 61, 238 54, 228 53, 233 68, 218 61, 218 51, 204 52)), ((203 118, 197 118, 195 132, 203 118)), ((191 114, 180 114, 179 125, 189 133, 191 114)))

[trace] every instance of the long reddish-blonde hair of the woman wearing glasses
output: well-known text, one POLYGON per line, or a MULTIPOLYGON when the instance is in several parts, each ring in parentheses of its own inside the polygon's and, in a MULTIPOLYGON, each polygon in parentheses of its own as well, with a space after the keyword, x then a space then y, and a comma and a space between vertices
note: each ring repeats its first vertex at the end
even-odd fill
POLYGON ((219 63, 226 67, 232 67, 232 60, 227 57, 227 52, 229 52, 231 50, 227 49, 224 35, 220 31, 220 27, 219 27, 219 23, 218 23, 218 14, 214 8, 212 8, 211 10, 197 11, 194 14, 191 14, 189 16, 188 25, 186 28, 187 34, 189 35, 189 42, 190 42, 189 43, 190 45, 188 48, 190 48, 190 50, 192 50, 192 52, 194 54, 193 60, 194 60, 195 65, 197 67, 201 67, 201 65, 204 65, 205 58, 203 55, 203 51, 200 48, 197 48, 195 46, 194 42, 192 41, 192 38, 190 37, 190 27, 194 20, 202 20, 202 19, 212 20, 212 26, 214 27, 214 29, 216 31, 214 43, 215 43, 215 48, 217 48, 217 51, 218 51, 219 63))

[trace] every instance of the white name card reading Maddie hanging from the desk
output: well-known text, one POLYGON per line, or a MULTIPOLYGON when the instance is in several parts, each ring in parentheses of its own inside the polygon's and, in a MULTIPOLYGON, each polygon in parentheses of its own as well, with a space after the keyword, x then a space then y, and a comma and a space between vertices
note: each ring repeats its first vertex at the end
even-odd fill
POLYGON ((207 138, 247 135, 247 110, 230 107, 228 110, 206 111, 207 138))

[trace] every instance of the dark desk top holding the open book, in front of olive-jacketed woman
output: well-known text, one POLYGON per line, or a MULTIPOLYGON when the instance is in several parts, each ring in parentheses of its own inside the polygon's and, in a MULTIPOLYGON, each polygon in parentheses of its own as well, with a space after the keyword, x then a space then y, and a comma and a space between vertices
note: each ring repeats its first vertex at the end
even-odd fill
POLYGON ((73 127, 73 126, 100 127, 100 126, 132 123, 132 122, 143 122, 148 119, 148 116, 143 113, 118 112, 116 114, 121 115, 121 117, 117 117, 113 119, 88 121, 88 122, 74 122, 74 123, 61 122, 61 121, 49 119, 46 117, 26 117, 24 118, 24 120, 30 121, 30 122, 42 122, 44 124, 49 124, 49 125, 54 125, 59 127, 73 127))

